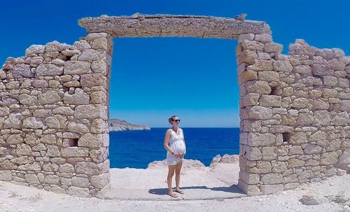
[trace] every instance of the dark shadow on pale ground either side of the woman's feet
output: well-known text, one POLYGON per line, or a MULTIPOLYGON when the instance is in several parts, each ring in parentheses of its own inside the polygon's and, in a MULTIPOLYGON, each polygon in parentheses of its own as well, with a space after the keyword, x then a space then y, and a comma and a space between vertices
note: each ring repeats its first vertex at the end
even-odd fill
MULTIPOLYGON (((244 195, 244 192, 242 192, 238 188, 237 185, 231 185, 230 187, 214 187, 214 188, 208 188, 207 186, 181 187, 181 190, 190 190, 190 189, 208 189, 208 190, 230 192, 230 193, 244 195)), ((152 195, 167 195, 168 189, 167 188, 153 188, 153 189, 148 190, 148 193, 150 193, 152 195)))

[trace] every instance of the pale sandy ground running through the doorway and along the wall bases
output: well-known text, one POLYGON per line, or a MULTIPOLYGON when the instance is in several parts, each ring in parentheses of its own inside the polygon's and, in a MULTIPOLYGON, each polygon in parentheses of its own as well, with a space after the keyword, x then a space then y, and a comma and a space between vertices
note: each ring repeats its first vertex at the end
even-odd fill
POLYGON ((238 164, 183 169, 184 195, 165 194, 167 167, 111 169, 105 199, 79 198, 0 182, 0 211, 350 211, 350 174, 275 195, 246 197, 237 189, 238 164), (321 204, 304 205, 303 195, 321 204), (177 200, 177 201, 176 201, 177 200))

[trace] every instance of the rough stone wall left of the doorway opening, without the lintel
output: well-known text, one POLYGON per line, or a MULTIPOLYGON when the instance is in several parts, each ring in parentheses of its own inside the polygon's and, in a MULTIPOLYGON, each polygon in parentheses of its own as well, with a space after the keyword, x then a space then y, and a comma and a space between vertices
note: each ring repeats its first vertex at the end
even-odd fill
POLYGON ((108 188, 113 43, 31 45, 0 70, 0 181, 91 197, 108 188))

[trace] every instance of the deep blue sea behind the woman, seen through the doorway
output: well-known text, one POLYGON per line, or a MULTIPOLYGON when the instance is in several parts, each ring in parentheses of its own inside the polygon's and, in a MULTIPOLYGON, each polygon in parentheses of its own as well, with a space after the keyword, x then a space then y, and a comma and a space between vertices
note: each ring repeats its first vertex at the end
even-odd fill
MULTIPOLYGON (((216 155, 239 154, 239 128, 185 128, 186 159, 200 160, 206 167, 216 155)), ((111 168, 146 169, 150 162, 164 160, 167 128, 110 132, 111 168)))

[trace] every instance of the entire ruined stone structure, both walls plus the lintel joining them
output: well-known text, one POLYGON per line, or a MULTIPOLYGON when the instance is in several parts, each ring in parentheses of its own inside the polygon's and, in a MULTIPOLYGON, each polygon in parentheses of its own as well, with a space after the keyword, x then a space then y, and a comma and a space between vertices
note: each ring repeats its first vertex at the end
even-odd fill
POLYGON ((302 40, 281 55, 264 22, 87 17, 73 45, 31 45, 0 71, 0 180, 80 197, 109 188, 112 38, 237 39, 239 188, 265 195, 349 170, 350 58, 302 40))

